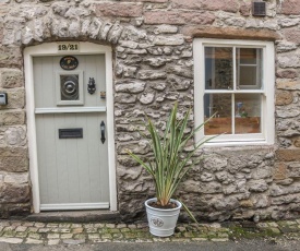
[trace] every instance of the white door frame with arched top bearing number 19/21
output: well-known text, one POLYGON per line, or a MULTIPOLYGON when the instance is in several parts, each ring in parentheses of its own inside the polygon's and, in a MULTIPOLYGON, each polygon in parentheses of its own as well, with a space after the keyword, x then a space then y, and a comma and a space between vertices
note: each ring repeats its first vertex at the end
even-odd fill
MULTIPOLYGON (((29 146, 29 171, 33 190, 34 213, 40 212, 39 180, 35 124, 35 97, 34 97, 34 71, 33 57, 68 55, 105 55, 106 62, 106 100, 107 100, 107 140, 108 140, 108 168, 109 168, 109 204, 110 211, 117 211, 117 184, 115 163, 115 134, 113 134, 113 93, 112 93, 112 52, 109 46, 96 45, 87 41, 75 43, 79 45, 75 51, 59 52, 58 46, 62 43, 46 43, 27 47, 24 50, 24 71, 26 91, 26 117, 29 146)), ((64 43, 63 43, 64 44, 64 43)), ((69 44, 69 43, 65 43, 69 44)), ((70 43, 74 44, 74 43, 70 43)))

